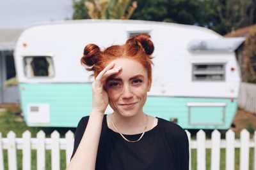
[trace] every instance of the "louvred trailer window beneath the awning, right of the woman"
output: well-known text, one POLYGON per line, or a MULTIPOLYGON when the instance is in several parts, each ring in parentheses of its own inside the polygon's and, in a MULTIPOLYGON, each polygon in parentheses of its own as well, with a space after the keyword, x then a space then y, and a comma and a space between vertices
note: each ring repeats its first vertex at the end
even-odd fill
POLYGON ((193 63, 193 81, 225 81, 225 64, 193 63))

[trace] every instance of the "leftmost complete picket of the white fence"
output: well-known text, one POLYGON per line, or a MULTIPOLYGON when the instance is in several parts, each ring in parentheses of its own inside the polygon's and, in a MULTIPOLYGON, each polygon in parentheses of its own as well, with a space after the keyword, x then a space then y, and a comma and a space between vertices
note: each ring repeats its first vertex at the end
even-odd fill
POLYGON ((13 131, 8 132, 8 167, 9 170, 17 170, 17 158, 16 158, 16 143, 15 133, 13 131))

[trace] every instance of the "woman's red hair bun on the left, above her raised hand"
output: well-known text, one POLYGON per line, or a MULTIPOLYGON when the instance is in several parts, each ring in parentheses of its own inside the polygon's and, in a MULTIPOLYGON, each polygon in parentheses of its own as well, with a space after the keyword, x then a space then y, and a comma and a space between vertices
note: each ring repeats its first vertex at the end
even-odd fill
POLYGON ((95 44, 89 44, 84 47, 84 55, 81 58, 81 63, 86 66, 93 66, 99 59, 100 48, 95 44))

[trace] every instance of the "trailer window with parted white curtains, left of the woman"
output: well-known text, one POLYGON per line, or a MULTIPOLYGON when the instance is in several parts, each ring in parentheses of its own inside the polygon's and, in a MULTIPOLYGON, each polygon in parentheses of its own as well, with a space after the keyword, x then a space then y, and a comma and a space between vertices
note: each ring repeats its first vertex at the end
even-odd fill
POLYGON ((24 71, 28 78, 54 76, 52 57, 24 57, 24 71))

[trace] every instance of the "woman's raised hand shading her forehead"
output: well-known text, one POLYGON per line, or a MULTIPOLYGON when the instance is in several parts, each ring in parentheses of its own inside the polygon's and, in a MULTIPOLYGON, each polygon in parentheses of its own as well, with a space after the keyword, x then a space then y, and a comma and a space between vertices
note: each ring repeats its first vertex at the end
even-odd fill
POLYGON ((121 70, 121 67, 113 69, 114 66, 115 62, 108 64, 92 83, 92 113, 101 113, 104 115, 108 107, 108 94, 106 90, 104 90, 104 83, 109 76, 121 70))

